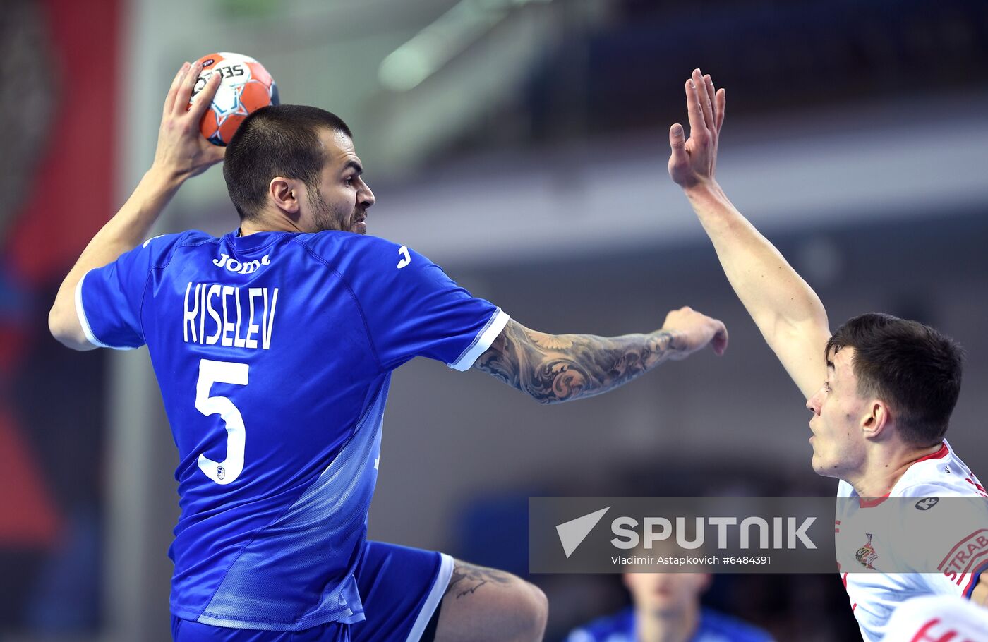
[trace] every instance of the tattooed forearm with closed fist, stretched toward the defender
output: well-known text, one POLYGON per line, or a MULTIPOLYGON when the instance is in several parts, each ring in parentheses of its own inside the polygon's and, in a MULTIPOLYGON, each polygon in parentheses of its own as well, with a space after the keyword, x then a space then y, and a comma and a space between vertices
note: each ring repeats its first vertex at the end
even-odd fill
POLYGON ((670 312, 661 330, 620 337, 549 335, 509 321, 473 366, 551 404, 607 392, 707 344, 724 353, 724 324, 688 307, 670 312))

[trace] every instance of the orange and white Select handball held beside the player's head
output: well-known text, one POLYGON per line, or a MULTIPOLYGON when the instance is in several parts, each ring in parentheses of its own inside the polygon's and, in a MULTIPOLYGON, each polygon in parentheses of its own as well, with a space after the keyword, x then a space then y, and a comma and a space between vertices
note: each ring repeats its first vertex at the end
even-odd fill
MULTIPOLYGON (((214 145, 226 145, 240 123, 262 107, 278 105, 278 87, 264 66, 240 53, 210 53, 198 60, 203 72, 192 90, 195 99, 214 74, 222 74, 212 105, 203 114, 200 131, 214 145)), ((189 101, 192 105, 192 100, 189 101)))

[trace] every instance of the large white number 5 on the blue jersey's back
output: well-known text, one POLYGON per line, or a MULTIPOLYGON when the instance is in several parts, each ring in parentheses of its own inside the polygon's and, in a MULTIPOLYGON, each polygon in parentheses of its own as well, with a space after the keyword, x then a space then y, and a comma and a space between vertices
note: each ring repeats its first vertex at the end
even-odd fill
POLYGON ((199 455, 199 467, 206 477, 217 484, 233 482, 244 469, 244 445, 247 433, 244 418, 227 397, 210 397, 213 383, 247 385, 247 364, 230 361, 199 362, 199 382, 196 384, 196 410, 206 415, 219 415, 226 426, 226 458, 213 461, 205 454, 199 455))

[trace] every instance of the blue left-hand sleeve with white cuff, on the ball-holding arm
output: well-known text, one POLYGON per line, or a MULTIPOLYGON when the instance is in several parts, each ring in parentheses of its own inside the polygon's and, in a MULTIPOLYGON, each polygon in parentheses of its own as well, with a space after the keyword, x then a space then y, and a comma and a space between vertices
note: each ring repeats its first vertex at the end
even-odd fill
POLYGON ((148 276, 170 255, 175 239, 176 235, 148 239, 83 276, 75 288, 75 309, 91 344, 116 350, 144 345, 140 308, 148 276))

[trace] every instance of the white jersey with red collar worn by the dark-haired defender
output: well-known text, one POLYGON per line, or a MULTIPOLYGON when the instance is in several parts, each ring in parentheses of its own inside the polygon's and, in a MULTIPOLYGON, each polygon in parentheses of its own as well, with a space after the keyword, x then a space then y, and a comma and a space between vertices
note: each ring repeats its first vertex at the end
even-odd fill
MULTIPOLYGON (((841 481, 838 497, 859 497, 854 487, 841 481)), ((947 441, 937 452, 915 461, 906 469, 887 497, 988 497, 984 487, 963 461, 950 449, 947 441)), ((981 571, 988 568, 988 501, 977 515, 957 520, 947 512, 937 511, 936 500, 917 503, 916 511, 901 512, 891 520, 879 518, 876 508, 885 498, 860 499, 858 502, 838 502, 835 519, 835 540, 838 568, 851 599, 855 617, 867 642, 886 637, 892 612, 902 602, 930 595, 970 598, 981 571), (863 513, 870 511, 870 513, 863 513), (962 523, 961 523, 962 522, 962 523), (904 551, 897 554, 896 534, 909 532, 918 524, 952 537, 946 549, 937 544, 926 551, 927 558, 906 559, 904 551), (903 530, 905 529, 905 530, 903 530), (956 536, 954 536, 956 534, 956 536), (952 547, 951 547, 952 546, 952 547), (878 572, 854 572, 849 569, 873 569, 878 572), (938 573, 880 572, 883 569, 939 569, 938 573)), ((901 544, 900 544, 901 547, 901 544)))

